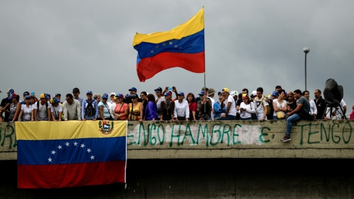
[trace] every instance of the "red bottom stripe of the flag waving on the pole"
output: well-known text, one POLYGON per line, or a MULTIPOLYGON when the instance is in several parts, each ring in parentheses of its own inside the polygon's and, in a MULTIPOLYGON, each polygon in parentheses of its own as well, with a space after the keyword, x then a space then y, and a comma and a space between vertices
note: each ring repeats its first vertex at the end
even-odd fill
POLYGON ((204 51, 200 53, 162 52, 142 59, 136 66, 140 81, 152 78, 162 70, 181 67, 194 73, 204 73, 204 51))

